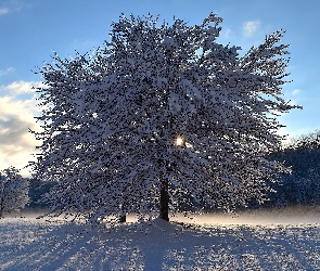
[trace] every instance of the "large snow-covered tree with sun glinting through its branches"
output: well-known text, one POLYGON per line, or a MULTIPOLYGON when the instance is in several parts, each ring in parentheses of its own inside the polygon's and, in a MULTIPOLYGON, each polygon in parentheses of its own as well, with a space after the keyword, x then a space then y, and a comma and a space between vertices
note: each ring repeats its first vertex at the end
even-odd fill
POLYGON ((283 31, 239 56, 217 43, 219 23, 120 16, 111 40, 41 68, 43 143, 35 178, 57 182, 52 212, 97 221, 208 205, 231 211, 263 203, 282 164, 279 113, 289 46, 283 31))

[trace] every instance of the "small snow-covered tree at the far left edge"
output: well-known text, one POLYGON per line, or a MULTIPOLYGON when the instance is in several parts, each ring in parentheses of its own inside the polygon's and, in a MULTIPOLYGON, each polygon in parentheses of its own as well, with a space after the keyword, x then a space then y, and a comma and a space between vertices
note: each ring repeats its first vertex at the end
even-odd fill
POLYGON ((14 167, 0 172, 0 218, 4 212, 20 211, 28 202, 28 180, 14 167))

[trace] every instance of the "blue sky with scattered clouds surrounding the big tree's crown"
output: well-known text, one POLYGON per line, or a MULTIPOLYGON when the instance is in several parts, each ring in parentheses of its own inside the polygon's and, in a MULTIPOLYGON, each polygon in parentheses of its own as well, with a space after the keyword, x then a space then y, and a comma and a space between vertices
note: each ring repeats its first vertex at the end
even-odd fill
MULTIPOLYGON (((28 128, 38 129, 39 115, 30 86, 40 86, 39 70, 51 62, 53 51, 62 57, 94 50, 108 40, 110 25, 124 13, 161 15, 201 24, 210 13, 223 17, 218 42, 258 46, 280 28, 291 43, 287 72, 293 82, 284 86, 284 99, 303 105, 280 118, 280 132, 296 137, 320 129, 320 28, 319 0, 0 0, 0 169, 24 167, 33 159, 36 142, 28 128), (38 66, 38 67, 37 67, 38 66)), ((26 170, 23 175, 27 176, 26 170)))

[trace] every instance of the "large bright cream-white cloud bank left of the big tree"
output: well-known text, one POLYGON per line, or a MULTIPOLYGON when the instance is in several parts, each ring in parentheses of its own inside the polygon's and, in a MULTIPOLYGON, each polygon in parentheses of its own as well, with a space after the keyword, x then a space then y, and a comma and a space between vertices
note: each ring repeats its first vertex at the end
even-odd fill
MULTIPOLYGON (((0 91, 7 92, 0 96, 0 169, 14 166, 23 168, 28 162, 34 160, 31 154, 36 153, 36 141, 28 129, 40 131, 40 126, 36 122, 35 116, 40 115, 35 94, 27 100, 21 100, 18 94, 35 92, 30 86, 40 86, 41 82, 18 81, 2 86, 0 91)), ((0 92, 1 93, 1 92, 0 92)), ((28 176, 25 169, 22 175, 28 176)))

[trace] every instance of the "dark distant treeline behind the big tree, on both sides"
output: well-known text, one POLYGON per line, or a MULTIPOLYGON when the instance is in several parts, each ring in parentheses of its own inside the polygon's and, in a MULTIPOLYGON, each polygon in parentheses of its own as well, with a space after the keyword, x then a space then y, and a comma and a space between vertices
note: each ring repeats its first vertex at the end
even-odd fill
MULTIPOLYGON (((270 159, 283 162, 292 168, 291 175, 282 175, 279 184, 270 183, 277 193, 270 193, 269 202, 249 208, 281 208, 287 206, 320 205, 320 131, 292 140, 281 150, 272 153, 270 159)), ((54 183, 29 180, 29 208, 48 207, 39 202, 54 183)))

